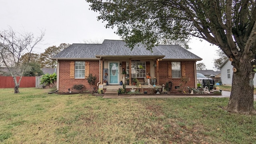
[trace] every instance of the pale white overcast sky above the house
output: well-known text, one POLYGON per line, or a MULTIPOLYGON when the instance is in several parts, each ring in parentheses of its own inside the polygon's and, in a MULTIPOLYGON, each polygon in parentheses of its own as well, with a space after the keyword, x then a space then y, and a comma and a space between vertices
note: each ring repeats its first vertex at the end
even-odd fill
MULTIPOLYGON (((0 4, 0 30, 10 26, 16 32, 32 32, 36 36, 42 29, 46 30, 44 44, 34 53, 40 54, 49 46, 61 43, 120 40, 120 36, 114 34, 115 30, 106 29, 106 23, 97 20, 98 14, 89 10, 85 0, 0 0, 0 4)), ((191 40, 189 46, 192 48, 190 52, 203 59, 198 62, 213 70, 218 47, 199 39, 191 40)))

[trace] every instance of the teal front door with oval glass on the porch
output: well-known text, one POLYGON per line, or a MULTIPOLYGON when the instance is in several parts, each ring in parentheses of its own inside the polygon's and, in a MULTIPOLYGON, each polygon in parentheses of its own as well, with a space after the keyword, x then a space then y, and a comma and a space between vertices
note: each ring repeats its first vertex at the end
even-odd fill
POLYGON ((109 83, 119 84, 119 62, 109 62, 109 83))

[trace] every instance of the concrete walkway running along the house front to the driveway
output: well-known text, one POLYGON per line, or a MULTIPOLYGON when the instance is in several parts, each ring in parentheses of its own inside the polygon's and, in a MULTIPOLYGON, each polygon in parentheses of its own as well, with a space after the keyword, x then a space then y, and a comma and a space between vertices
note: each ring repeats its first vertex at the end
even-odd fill
MULTIPOLYGON (((222 91, 221 96, 167 96, 167 95, 128 95, 128 96, 103 96, 103 98, 229 98, 230 92, 222 91)), ((256 95, 254 94, 254 101, 256 101, 256 95)))

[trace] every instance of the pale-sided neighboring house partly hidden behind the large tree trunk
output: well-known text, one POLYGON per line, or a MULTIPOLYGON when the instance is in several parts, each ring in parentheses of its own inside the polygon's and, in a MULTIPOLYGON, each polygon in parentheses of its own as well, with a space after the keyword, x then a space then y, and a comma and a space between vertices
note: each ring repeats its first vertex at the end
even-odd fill
MULTIPOLYGON (((233 66, 229 58, 227 58, 223 64, 220 65, 221 82, 222 85, 232 86, 233 66)), ((256 86, 256 77, 253 78, 253 85, 256 86)))

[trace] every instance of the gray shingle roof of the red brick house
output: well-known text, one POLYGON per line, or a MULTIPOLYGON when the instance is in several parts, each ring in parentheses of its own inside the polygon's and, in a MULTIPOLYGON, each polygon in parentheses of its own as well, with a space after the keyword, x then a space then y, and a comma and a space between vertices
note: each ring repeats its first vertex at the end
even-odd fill
POLYGON ((104 40, 102 44, 72 44, 52 59, 94 59, 96 56, 159 56, 163 59, 193 59, 202 58, 178 45, 158 45, 153 52, 143 46, 135 46, 130 50, 122 40, 104 40))

